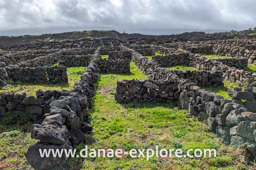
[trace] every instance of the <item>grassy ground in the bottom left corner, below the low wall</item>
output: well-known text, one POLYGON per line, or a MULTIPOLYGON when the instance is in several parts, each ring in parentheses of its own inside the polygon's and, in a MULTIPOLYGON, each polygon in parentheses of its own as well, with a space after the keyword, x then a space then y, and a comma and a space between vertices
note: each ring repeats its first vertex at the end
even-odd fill
POLYGON ((26 124, 0 124, 0 169, 32 169, 24 153, 36 139, 30 137, 32 122, 26 124))

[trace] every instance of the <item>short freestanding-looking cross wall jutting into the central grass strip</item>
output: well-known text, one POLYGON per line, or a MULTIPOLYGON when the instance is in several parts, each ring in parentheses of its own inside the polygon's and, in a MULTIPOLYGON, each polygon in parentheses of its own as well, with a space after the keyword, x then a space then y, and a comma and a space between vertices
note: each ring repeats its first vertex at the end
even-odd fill
POLYGON ((115 100, 118 103, 164 102, 179 98, 177 82, 169 80, 117 80, 115 100))

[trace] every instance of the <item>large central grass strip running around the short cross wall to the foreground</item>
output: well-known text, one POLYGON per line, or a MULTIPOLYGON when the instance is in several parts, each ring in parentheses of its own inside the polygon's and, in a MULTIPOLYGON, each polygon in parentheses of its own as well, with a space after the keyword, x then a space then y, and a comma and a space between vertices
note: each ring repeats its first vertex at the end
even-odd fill
MULTIPOLYGON (((175 105, 163 103, 119 104, 114 100, 109 85, 116 85, 117 78, 144 78, 131 62, 134 75, 103 74, 96 84, 96 95, 92 98, 89 120, 93 126, 93 135, 87 136, 84 144, 76 149, 80 151, 88 145, 89 149, 133 148, 172 149, 216 149, 217 158, 72 158, 70 166, 74 169, 240 169, 238 156, 244 150, 233 149, 220 142, 216 134, 209 133, 208 127, 188 116, 187 110, 179 110, 175 105), (134 66, 134 67, 133 67, 134 66)), ((113 89, 111 89, 113 90, 113 89)), ((252 167, 251 167, 252 168, 252 167)))

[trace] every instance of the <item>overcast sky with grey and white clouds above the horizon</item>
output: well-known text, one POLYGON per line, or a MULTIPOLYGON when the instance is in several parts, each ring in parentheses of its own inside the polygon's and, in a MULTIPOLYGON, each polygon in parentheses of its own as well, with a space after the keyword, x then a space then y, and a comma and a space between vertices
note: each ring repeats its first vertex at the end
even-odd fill
POLYGON ((0 0, 0 35, 67 28, 241 30, 254 26, 256 0, 0 0))

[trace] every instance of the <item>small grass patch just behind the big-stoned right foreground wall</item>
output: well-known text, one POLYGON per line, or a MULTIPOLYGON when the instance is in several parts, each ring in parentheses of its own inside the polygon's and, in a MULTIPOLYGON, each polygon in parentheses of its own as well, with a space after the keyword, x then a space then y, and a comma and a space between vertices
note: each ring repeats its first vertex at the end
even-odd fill
MULTIPOLYGON (((234 88, 237 86, 236 83, 231 83, 230 81, 224 80, 224 87, 218 87, 218 88, 213 88, 213 87, 207 87, 205 90, 209 92, 215 92, 217 95, 220 95, 224 97, 225 99, 230 99, 231 97, 228 96, 228 89, 234 90, 234 88)), ((244 89, 244 88, 242 88, 244 89)))

